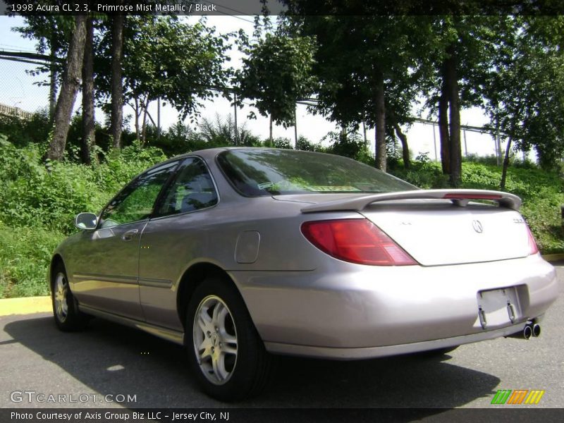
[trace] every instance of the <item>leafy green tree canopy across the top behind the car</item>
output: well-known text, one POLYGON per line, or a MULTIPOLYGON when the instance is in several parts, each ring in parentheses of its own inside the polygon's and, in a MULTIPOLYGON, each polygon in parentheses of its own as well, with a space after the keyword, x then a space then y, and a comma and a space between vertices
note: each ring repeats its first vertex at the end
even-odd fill
MULTIPOLYGON (((235 93, 239 106, 250 99, 259 114, 270 116, 271 124, 284 127, 295 125, 296 103, 307 99, 311 111, 343 128, 341 135, 329 137, 343 142, 343 151, 348 151, 351 128, 374 128, 374 164, 382 169, 396 136, 409 166, 403 128, 415 114, 426 112, 438 118, 442 170, 452 185, 461 179, 460 111, 471 106, 484 109, 491 130, 507 138, 510 146, 536 149, 542 166, 554 166, 562 158, 562 16, 421 16, 408 9, 403 14, 376 13, 381 8, 355 1, 325 2, 324 7, 331 6, 326 14, 305 0, 285 3, 292 13, 276 25, 270 19, 261 25, 257 17, 252 37, 244 32, 218 35, 205 21, 188 25, 175 16, 126 16, 120 60, 111 30, 114 19, 87 20, 87 28, 94 25, 86 37, 92 39, 94 63, 92 71, 83 68, 82 90, 92 91, 106 110, 109 104, 119 109, 118 97, 111 101, 119 86, 123 101, 135 112, 136 137, 141 140, 148 121, 154 124, 148 106, 156 99, 173 106, 184 120, 197 116, 205 99, 233 99, 235 93), (233 39, 243 53, 237 71, 228 66, 233 39)), ((400 7, 407 3, 393 10, 400 7)), ((78 56, 71 54, 74 18, 25 19, 19 31, 37 39, 39 51, 68 57, 67 69, 71 57, 76 61, 78 56)), ((86 61, 91 55, 84 56, 86 61)), ((62 67, 49 70, 65 82, 62 75, 68 72, 63 74, 62 67)), ((92 123, 91 115, 87 113, 87 121, 92 123)), ((64 131, 55 133, 61 142, 64 131)), ((92 125, 87 133, 92 133, 92 125)), ((351 142, 357 145, 356 138, 351 142)), ((51 155, 60 159, 59 153, 51 155)))

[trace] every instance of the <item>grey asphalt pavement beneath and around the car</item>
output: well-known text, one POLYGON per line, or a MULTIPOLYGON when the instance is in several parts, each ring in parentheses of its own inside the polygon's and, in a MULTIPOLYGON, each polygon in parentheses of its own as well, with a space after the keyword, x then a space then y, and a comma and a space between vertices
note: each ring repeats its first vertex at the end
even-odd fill
POLYGON ((198 390, 178 345, 101 319, 61 333, 47 312, 3 316, 0 407, 491 407, 500 389, 545 391, 539 404, 515 407, 564 407, 564 266, 556 267, 560 297, 539 338, 441 357, 281 357, 262 396, 230 405, 198 390))

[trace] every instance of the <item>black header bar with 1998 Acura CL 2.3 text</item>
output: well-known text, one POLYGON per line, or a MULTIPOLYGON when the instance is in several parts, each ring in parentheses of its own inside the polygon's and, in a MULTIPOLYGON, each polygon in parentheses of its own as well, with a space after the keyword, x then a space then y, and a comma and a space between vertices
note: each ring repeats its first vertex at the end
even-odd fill
POLYGON ((0 0, 0 15, 564 15, 562 0, 0 0))

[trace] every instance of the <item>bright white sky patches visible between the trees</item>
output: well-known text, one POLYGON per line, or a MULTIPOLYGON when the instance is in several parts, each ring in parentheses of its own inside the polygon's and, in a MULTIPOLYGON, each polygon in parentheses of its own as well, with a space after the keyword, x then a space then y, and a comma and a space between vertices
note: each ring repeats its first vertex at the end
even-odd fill
MULTIPOLYGON (((196 16, 187 18, 188 22, 197 20, 196 16)), ((0 16, 0 50, 7 51, 35 51, 35 42, 24 39, 17 32, 11 31, 14 26, 23 25, 23 18, 0 16)), ((207 25, 216 27, 219 33, 235 32, 239 29, 245 30, 248 35, 252 35, 253 17, 252 16, 208 16, 207 25)), ((241 63, 242 55, 236 48, 229 51, 231 56, 230 66, 238 67, 241 63)), ((47 106, 48 87, 38 87, 33 82, 46 80, 47 74, 39 77, 32 77, 25 71, 35 68, 34 65, 18 63, 14 61, 0 60, 0 103, 9 106, 20 107, 25 111, 36 111, 47 106)), ((249 100, 245 100, 243 109, 238 109, 238 123, 245 123, 245 128, 254 135, 261 138, 269 136, 269 119, 259 115, 258 111, 251 107, 249 100), (251 111, 255 112, 257 119, 248 119, 251 111)), ((80 94, 75 102, 75 106, 80 106, 80 94)), ((149 112, 154 119, 157 119, 157 103, 149 106, 149 112)), ((203 102, 201 109, 202 118, 215 120, 216 116, 226 119, 228 114, 233 115, 233 107, 227 99, 216 98, 203 102)), ((124 116, 133 115, 133 110, 129 106, 124 108, 124 116)), ((297 109, 298 136, 303 135, 312 142, 319 142, 329 131, 336 131, 335 124, 326 121, 322 116, 314 116, 307 111, 307 107, 298 104, 297 109)), ((423 116, 427 118, 427 116, 423 116)), ((97 119, 103 118, 101 112, 97 113, 97 119)), ((133 118, 131 119, 133 124, 133 118)), ((161 126, 163 129, 178 122, 178 114, 175 109, 164 106, 161 107, 161 126)), ((188 124, 188 120, 185 122, 188 124)), ((487 118, 480 109, 463 110, 461 113, 462 125, 482 126, 487 123, 487 118)), ((195 126, 195 125, 194 125, 195 126)), ((429 159, 440 159, 439 150, 439 131, 434 125, 415 123, 411 128, 404 128, 407 133, 407 140, 412 151, 412 156, 427 153, 429 159)), ((294 140, 294 127, 283 128, 275 126, 274 137, 287 137, 290 142, 294 140)), ((374 130, 367 130, 367 138, 374 152, 374 130)), ((470 131, 462 133, 462 154, 479 154, 482 156, 495 154, 495 142, 488 134, 480 134, 470 131)))

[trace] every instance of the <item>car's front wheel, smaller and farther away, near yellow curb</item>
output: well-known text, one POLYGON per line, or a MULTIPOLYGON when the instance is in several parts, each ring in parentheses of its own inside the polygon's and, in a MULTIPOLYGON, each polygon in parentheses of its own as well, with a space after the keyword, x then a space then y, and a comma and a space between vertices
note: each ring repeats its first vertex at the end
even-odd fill
POLYGON ((78 311, 78 304, 68 285, 65 266, 56 264, 51 276, 51 304, 55 324, 63 332, 80 331, 88 323, 86 314, 78 311))

